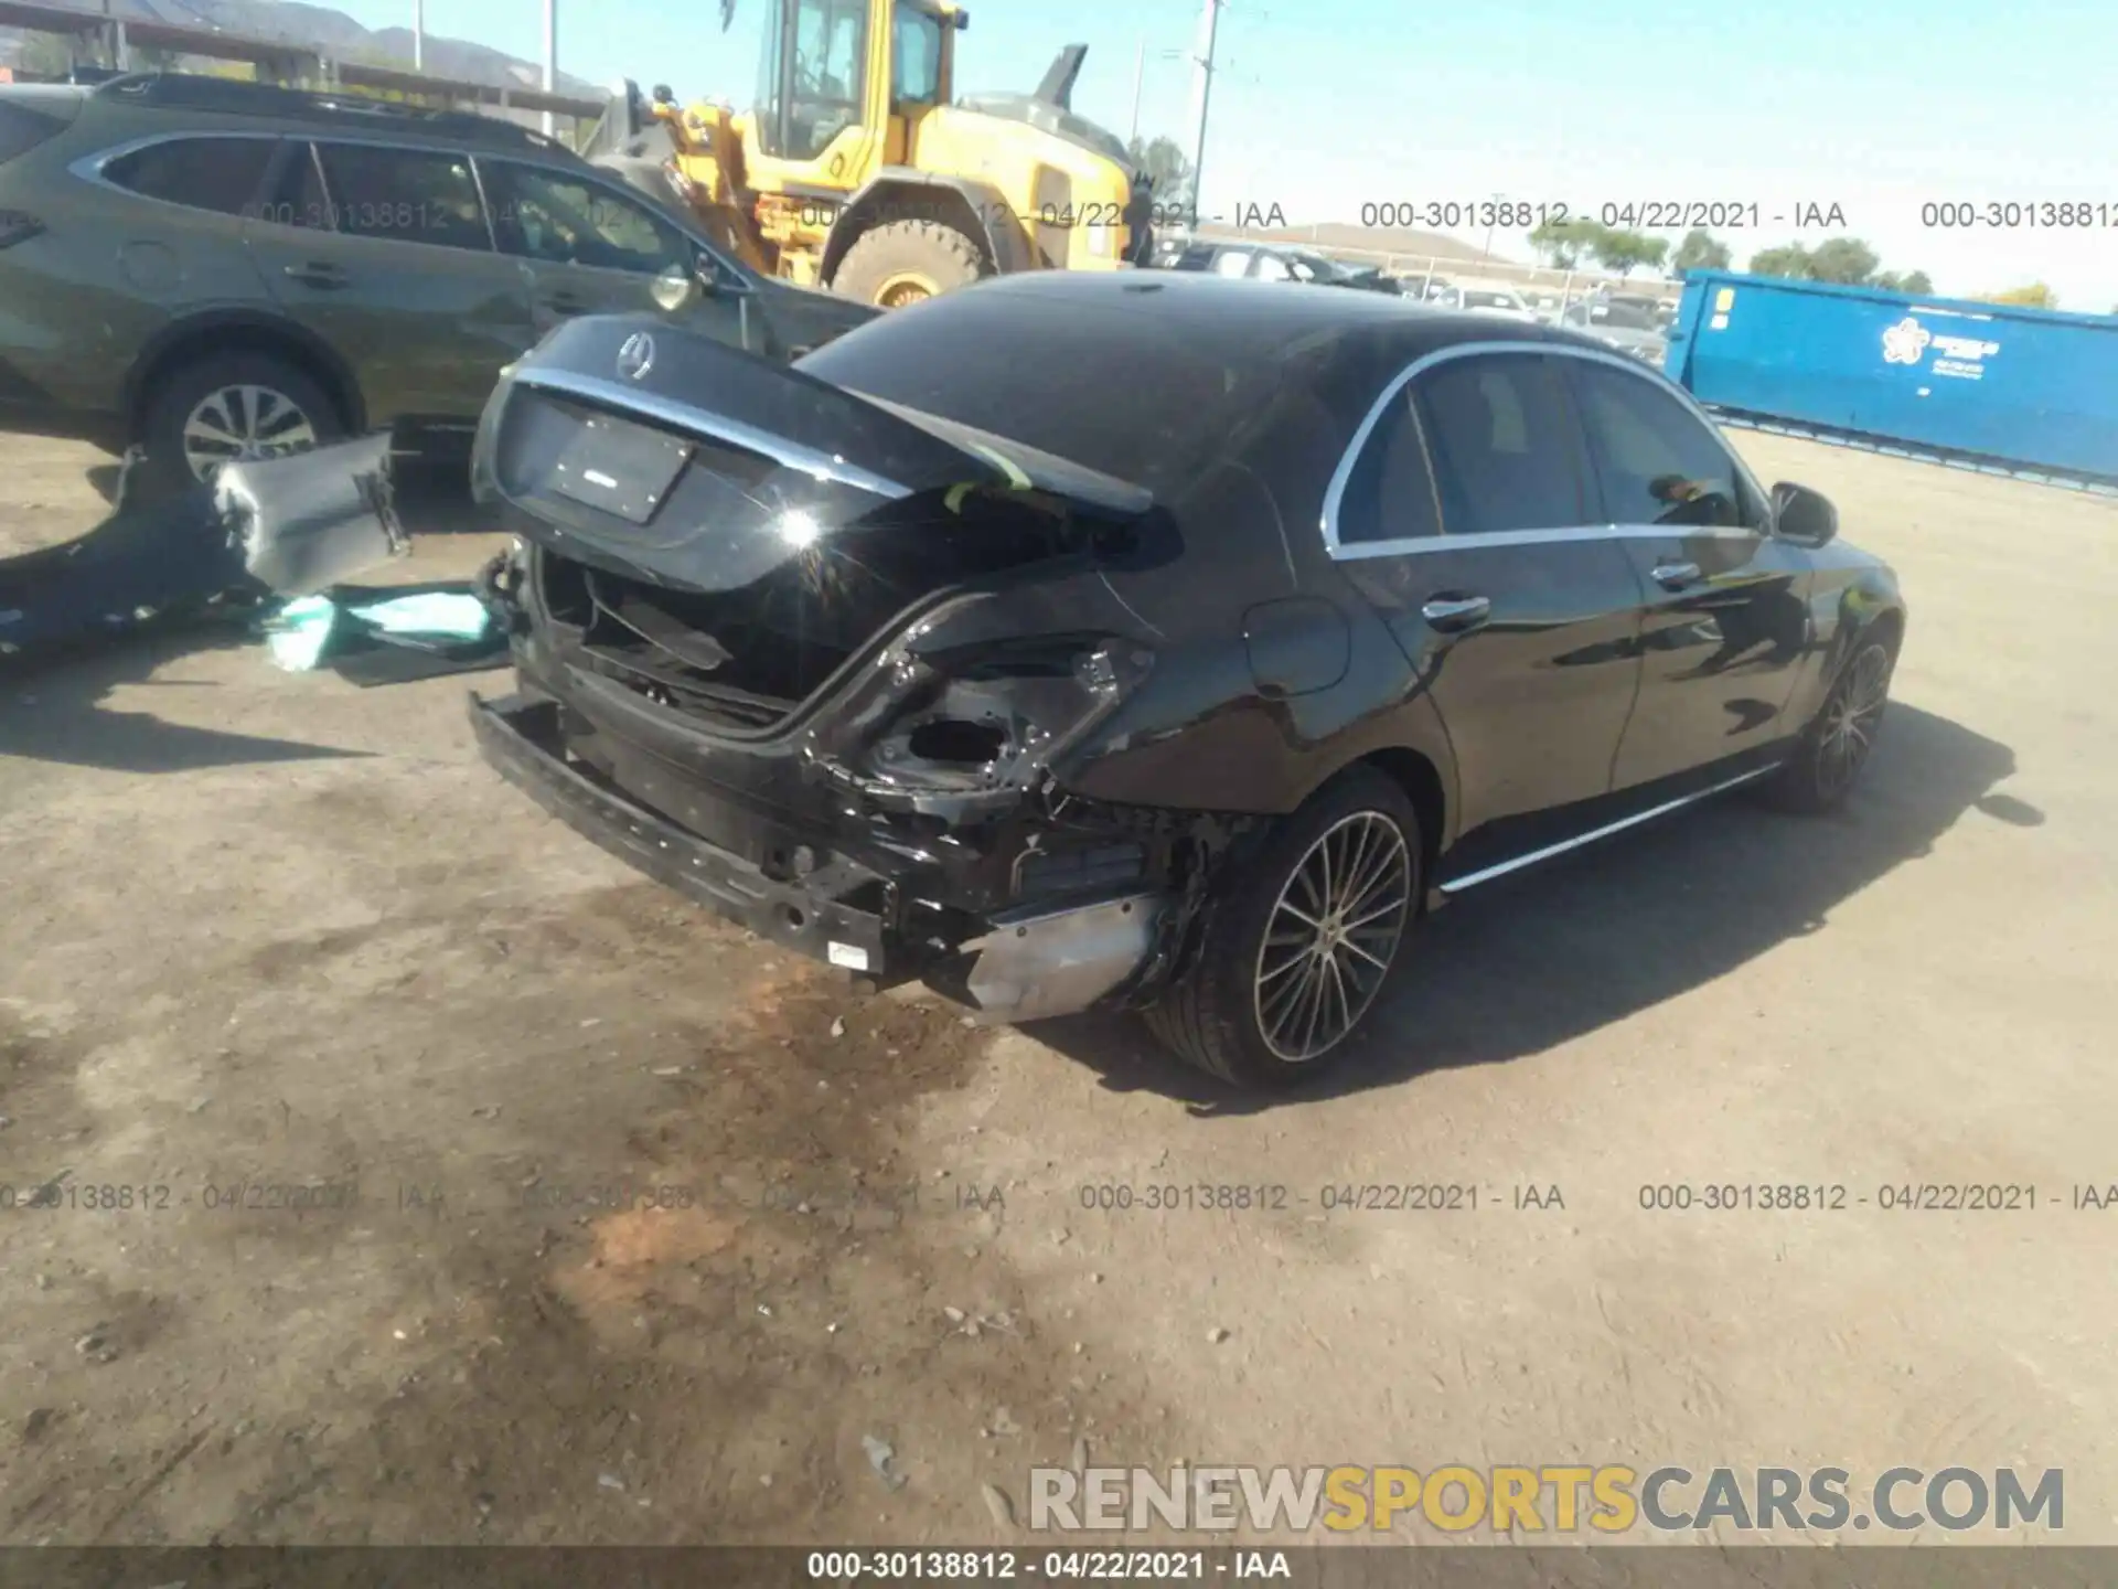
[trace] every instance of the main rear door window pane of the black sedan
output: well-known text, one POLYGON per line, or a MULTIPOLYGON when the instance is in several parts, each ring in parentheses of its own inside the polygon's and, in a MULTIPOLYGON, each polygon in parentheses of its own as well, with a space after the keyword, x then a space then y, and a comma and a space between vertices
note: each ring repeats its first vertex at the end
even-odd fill
POLYGON ((1447 534, 1588 521, 1580 428, 1550 360, 1453 358, 1413 388, 1447 534))

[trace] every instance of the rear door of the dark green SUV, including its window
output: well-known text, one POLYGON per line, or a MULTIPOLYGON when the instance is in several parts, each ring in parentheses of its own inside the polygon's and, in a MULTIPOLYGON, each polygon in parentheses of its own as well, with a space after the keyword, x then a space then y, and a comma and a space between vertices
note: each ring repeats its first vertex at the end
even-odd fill
POLYGON ((474 419, 534 343, 466 155, 288 140, 244 242, 280 309, 352 367, 371 424, 474 419))

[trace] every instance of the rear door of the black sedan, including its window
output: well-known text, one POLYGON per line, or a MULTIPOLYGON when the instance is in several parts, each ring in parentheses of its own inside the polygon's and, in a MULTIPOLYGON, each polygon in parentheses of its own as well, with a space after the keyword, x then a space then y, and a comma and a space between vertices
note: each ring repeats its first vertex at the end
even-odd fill
POLYGON ((1415 367, 1341 468, 1332 555, 1381 610, 1455 754, 1449 875, 1591 822, 1633 708, 1639 583, 1593 525, 1555 360, 1415 367))

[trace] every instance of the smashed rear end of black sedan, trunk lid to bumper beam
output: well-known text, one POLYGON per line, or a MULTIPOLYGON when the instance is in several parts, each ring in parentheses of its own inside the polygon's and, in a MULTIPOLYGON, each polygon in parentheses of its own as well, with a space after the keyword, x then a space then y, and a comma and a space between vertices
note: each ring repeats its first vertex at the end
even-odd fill
POLYGON ((474 489, 519 534, 496 589, 521 686, 479 731, 589 837, 989 1019, 1123 996, 1171 953, 1231 824, 1065 782, 1156 667, 1106 578, 1182 553, 1144 485, 597 320, 510 373, 474 489))

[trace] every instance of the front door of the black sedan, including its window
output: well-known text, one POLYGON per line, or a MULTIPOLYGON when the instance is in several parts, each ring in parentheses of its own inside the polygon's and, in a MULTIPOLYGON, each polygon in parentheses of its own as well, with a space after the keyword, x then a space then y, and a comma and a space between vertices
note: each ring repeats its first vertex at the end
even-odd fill
POLYGON ((1639 706, 1616 788, 1711 771, 1788 731, 1809 642, 1809 559, 1713 428, 1654 375, 1565 360, 1603 517, 1646 591, 1639 706))

